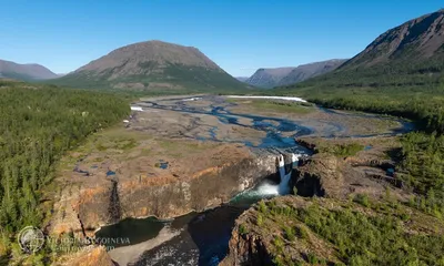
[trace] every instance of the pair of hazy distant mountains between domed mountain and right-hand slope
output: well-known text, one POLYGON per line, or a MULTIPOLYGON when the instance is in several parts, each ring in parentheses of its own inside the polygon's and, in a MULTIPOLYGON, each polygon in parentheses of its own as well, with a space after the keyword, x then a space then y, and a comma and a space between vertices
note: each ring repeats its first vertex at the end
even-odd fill
POLYGON ((301 64, 295 68, 259 69, 244 82, 264 89, 294 84, 333 71, 345 61, 346 60, 344 59, 333 59, 322 62, 301 64))

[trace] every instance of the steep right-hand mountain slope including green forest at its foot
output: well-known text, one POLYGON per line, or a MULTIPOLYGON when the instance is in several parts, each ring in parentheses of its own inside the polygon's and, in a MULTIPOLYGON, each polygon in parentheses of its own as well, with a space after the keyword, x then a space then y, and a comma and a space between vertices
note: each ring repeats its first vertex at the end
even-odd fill
POLYGON ((333 72, 273 93, 401 115, 444 133, 444 10, 386 31, 333 72))

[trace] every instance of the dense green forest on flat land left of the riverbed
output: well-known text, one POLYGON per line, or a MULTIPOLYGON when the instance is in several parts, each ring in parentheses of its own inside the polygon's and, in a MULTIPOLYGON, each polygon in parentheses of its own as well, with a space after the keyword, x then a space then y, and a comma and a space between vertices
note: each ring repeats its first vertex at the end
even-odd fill
POLYGON ((41 225, 58 160, 129 112, 112 94, 0 81, 0 257, 14 232, 41 225))

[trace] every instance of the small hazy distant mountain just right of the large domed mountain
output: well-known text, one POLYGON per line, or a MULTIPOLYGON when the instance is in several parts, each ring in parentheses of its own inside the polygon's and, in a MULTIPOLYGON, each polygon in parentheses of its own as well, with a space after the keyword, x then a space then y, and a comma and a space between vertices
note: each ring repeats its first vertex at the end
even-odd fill
POLYGON ((271 89, 279 84, 279 82, 294 68, 278 68, 278 69, 259 69, 245 83, 259 88, 271 89))

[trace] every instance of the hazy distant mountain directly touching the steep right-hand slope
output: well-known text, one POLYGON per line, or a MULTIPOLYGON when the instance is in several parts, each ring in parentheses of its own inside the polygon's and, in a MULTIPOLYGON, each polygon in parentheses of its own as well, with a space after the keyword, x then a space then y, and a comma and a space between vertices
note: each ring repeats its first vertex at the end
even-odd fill
POLYGON ((287 75, 285 75, 276 85, 289 85, 294 84, 310 78, 314 78, 321 74, 325 74, 330 71, 335 70, 343 64, 345 59, 332 59, 322 62, 301 64, 293 69, 287 75))

